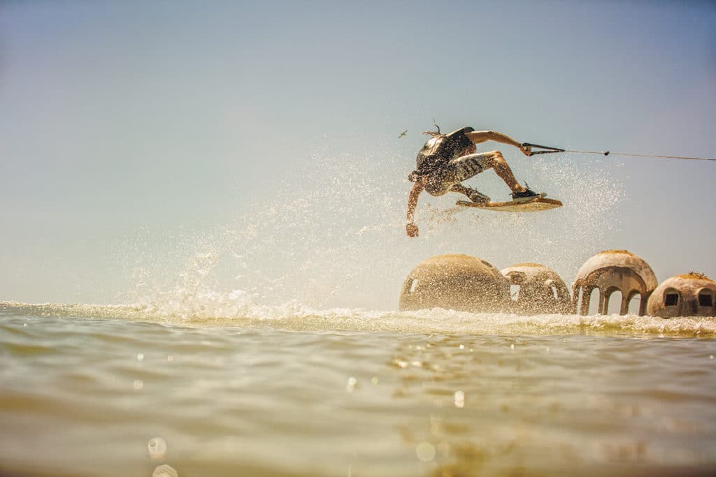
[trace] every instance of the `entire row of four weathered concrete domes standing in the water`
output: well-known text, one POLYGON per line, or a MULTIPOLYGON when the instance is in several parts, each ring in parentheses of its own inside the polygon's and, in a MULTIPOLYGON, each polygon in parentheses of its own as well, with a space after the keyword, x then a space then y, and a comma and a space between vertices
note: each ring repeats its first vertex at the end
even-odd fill
POLYGON ((478 257, 438 255, 408 274, 400 310, 448 308, 472 313, 589 313, 591 292, 599 290, 597 313, 609 310, 609 297, 621 292, 619 314, 641 297, 639 315, 662 318, 716 316, 716 282, 700 273, 676 275, 658 285, 652 267, 627 250, 605 250, 581 266, 569 289, 556 272, 538 263, 518 263, 502 272, 478 257), (511 300, 511 285, 519 292, 511 300))

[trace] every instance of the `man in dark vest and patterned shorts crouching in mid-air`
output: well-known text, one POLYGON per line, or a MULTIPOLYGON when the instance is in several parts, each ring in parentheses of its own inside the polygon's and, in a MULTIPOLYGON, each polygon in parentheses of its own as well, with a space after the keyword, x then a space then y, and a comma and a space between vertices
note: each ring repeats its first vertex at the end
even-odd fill
POLYGON ((417 196, 423 190, 435 197, 445 192, 459 192, 468 196, 473 202, 490 202, 490 197, 461 184, 485 169, 495 169, 495 174, 498 174, 512 190, 514 202, 523 202, 541 196, 517 182, 500 151, 475 152, 475 144, 495 141, 514 146, 529 156, 530 148, 524 147, 515 139, 499 132, 475 131, 469 126, 449 134, 441 134, 439 127, 437 132, 429 131, 423 134, 429 134, 432 138, 417 153, 417 169, 408 176, 410 181, 415 182, 407 200, 405 230, 409 237, 417 237, 418 230, 413 215, 417 206, 417 196))

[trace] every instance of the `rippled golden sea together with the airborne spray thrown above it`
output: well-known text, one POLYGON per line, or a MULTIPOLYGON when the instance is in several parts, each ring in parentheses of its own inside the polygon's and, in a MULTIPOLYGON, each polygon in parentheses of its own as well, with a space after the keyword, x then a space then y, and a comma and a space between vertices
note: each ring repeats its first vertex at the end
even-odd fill
POLYGON ((0 302, 0 477, 716 472, 716 318, 395 311, 442 253, 569 280, 618 222, 611 169, 524 164, 570 198, 549 215, 421 197, 407 240, 404 162, 314 159, 211 230, 127 238, 100 282, 129 305, 0 302))

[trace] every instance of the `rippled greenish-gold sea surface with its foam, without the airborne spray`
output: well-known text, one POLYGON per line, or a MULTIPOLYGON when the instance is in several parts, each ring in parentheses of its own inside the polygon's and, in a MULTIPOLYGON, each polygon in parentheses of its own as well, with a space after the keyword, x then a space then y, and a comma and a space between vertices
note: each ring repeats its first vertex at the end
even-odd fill
POLYGON ((0 475, 716 470, 716 318, 254 313, 2 303, 0 475))

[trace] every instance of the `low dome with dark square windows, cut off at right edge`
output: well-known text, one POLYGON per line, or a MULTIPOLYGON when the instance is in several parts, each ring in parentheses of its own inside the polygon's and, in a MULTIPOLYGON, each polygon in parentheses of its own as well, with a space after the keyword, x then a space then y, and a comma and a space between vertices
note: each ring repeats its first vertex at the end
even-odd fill
POLYGON ((691 272, 664 280, 649 297, 647 313, 661 318, 716 316, 716 282, 691 272))

